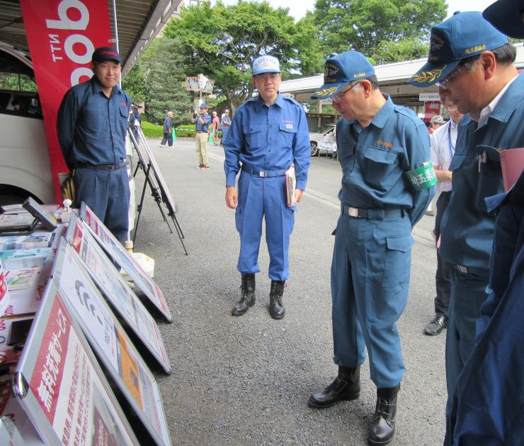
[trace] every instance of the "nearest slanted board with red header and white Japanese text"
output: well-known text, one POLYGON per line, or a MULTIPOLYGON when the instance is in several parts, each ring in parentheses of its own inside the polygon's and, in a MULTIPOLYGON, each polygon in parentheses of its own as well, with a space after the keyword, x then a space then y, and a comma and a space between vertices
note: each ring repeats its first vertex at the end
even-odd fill
POLYGON ((16 368, 13 394, 47 445, 139 445, 54 281, 16 368))

